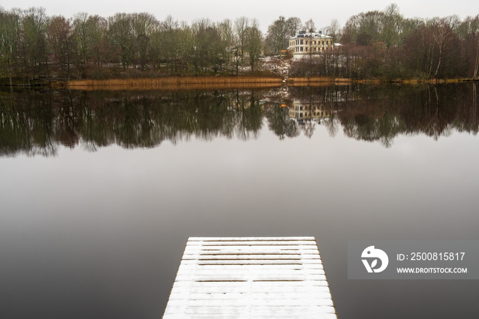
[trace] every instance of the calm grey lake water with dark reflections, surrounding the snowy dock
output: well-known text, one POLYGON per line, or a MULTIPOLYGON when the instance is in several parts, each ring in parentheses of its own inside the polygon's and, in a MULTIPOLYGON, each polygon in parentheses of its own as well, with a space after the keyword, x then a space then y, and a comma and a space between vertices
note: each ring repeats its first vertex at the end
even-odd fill
POLYGON ((188 237, 315 236, 339 319, 479 318, 479 281, 347 278, 348 240, 479 240, 478 95, 0 92, 0 317, 161 318, 188 237))

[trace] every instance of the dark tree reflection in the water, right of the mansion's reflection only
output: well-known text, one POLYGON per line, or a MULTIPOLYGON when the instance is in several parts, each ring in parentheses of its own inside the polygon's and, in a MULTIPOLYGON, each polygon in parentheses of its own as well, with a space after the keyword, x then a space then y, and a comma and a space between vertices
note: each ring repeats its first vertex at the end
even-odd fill
POLYGON ((436 140, 452 129, 477 134, 475 88, 476 84, 348 86, 298 88, 294 94, 305 103, 311 94, 328 97, 317 103, 331 110, 321 121, 331 136, 339 121, 346 136, 389 147, 398 134, 425 133, 436 140))

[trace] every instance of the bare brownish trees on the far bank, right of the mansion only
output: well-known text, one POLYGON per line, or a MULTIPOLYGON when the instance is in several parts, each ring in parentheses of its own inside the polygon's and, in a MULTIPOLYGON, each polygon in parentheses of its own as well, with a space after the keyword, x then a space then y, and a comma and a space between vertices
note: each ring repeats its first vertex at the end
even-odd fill
POLYGON ((294 75, 356 79, 447 79, 478 77, 479 15, 463 21, 404 18, 395 4, 351 16, 326 32, 340 45, 298 63, 294 75))

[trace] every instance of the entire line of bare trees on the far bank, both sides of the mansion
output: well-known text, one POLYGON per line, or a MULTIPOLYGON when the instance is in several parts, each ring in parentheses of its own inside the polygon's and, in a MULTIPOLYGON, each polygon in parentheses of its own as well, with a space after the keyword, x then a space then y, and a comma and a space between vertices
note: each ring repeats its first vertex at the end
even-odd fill
MULTIPOLYGON (((254 18, 244 16, 185 23, 172 16, 158 21, 146 12, 106 18, 80 12, 66 18, 48 16, 44 8, 0 8, 0 81, 29 85, 258 74, 263 56, 279 57, 301 30, 317 31, 312 19, 302 24, 284 16, 263 34, 254 18)), ((333 19, 321 30, 333 37, 335 48, 292 59, 287 75, 385 80, 478 76, 479 14, 463 21, 454 15, 404 18, 391 4, 351 16, 342 28, 333 19)))

